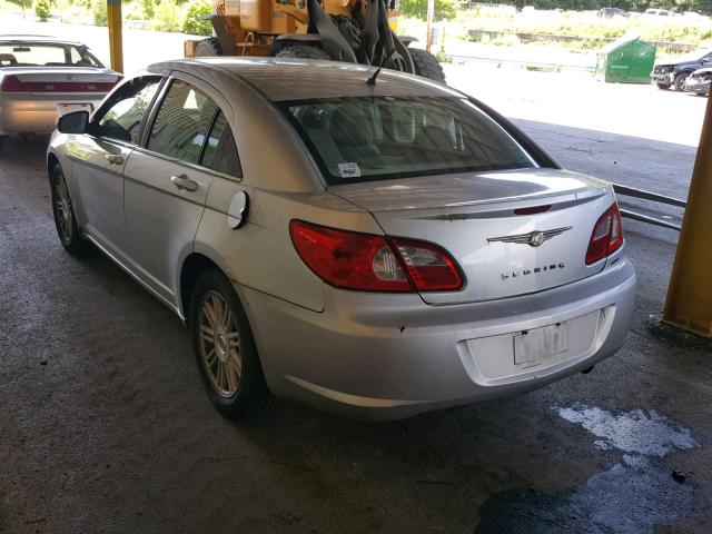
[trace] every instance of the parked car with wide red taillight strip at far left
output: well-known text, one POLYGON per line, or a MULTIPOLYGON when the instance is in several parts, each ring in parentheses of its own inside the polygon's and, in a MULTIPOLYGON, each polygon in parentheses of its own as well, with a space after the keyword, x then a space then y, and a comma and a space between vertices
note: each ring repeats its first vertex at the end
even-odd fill
POLYGON ((7 136, 50 134, 59 115, 92 111, 120 79, 80 42, 0 36, 0 151, 7 136))

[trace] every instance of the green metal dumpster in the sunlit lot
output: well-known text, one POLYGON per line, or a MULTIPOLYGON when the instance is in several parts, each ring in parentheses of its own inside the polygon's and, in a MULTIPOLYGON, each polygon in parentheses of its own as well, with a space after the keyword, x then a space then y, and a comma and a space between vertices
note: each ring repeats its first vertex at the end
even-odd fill
POLYGON ((622 37, 599 52, 596 79, 619 83, 650 83, 655 47, 637 37, 622 37))

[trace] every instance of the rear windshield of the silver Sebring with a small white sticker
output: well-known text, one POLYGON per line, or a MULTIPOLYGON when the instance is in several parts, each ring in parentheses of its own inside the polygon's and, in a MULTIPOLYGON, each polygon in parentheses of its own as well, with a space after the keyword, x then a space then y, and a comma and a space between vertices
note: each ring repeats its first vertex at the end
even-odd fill
POLYGON ((280 106, 330 185, 536 166, 465 98, 348 97, 280 106))

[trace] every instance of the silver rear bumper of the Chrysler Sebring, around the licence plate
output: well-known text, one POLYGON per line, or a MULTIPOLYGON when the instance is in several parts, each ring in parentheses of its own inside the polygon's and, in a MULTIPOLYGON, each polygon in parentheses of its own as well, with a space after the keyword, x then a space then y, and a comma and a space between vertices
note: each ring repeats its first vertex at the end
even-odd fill
POLYGON ((585 280, 466 305, 329 289, 325 310, 315 313, 237 287, 248 304, 270 389, 366 419, 530 390, 589 368, 623 344, 635 288, 635 271, 623 253, 585 280), (593 323, 592 314, 597 314, 593 323), (577 324, 575 335, 585 329, 576 323, 582 317, 593 325, 590 342, 572 340, 570 354, 538 365, 514 364, 514 335, 557 323, 577 324))

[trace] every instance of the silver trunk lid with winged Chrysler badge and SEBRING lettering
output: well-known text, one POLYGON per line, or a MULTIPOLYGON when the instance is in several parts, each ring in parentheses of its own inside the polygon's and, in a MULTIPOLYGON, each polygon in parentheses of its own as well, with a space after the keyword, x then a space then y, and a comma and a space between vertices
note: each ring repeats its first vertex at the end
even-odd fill
POLYGON ((422 293, 428 304, 506 298, 599 273, 585 264, 591 233, 611 206, 607 184, 556 169, 359 182, 329 192, 373 214, 384 231, 434 243, 465 286, 422 293))

